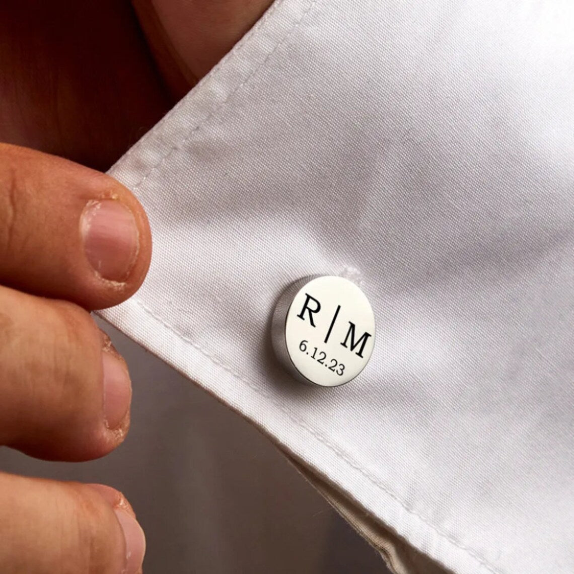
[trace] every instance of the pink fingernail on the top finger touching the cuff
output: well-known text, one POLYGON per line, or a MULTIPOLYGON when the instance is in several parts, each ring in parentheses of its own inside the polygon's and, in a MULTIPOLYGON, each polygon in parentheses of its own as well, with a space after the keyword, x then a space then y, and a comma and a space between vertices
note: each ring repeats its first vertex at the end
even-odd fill
POLYGON ((82 238, 90 265, 111 281, 125 281, 139 250, 132 212, 119 201, 90 201, 82 214, 82 238))

